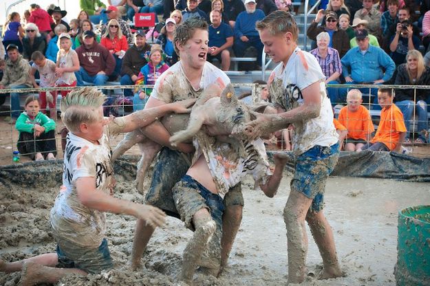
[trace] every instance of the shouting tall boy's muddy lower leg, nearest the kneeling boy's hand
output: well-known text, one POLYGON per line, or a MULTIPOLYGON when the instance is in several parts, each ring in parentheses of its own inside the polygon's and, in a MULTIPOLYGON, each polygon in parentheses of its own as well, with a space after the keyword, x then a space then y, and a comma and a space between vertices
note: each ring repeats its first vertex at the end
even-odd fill
POLYGON ((147 249, 149 239, 151 239, 154 230, 155 228, 152 228, 151 225, 147 225, 144 220, 138 219, 136 221, 133 250, 131 251, 131 267, 133 270, 140 267, 140 259, 142 259, 144 250, 147 249))

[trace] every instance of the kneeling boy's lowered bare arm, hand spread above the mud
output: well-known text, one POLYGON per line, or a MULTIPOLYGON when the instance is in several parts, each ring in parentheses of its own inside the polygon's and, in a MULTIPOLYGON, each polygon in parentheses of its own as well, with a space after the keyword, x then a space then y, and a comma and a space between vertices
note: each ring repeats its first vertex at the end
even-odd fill
POLYGON ((166 219, 166 214, 159 208, 117 199, 105 192, 96 190, 95 177, 80 177, 76 179, 76 191, 80 203, 93 210, 113 212, 115 214, 129 214, 138 219, 143 219, 145 223, 151 225, 153 228, 163 225, 166 219))

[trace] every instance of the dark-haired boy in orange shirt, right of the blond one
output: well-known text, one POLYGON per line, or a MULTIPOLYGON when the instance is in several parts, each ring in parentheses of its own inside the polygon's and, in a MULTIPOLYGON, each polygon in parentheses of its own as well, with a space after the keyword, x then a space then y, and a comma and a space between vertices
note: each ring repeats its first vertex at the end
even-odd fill
POLYGON ((361 150, 370 151, 394 151, 400 153, 402 142, 406 136, 406 126, 403 121, 403 114, 395 104, 393 104, 394 90, 379 89, 378 102, 380 111, 380 122, 375 137, 370 143, 365 144, 361 150))

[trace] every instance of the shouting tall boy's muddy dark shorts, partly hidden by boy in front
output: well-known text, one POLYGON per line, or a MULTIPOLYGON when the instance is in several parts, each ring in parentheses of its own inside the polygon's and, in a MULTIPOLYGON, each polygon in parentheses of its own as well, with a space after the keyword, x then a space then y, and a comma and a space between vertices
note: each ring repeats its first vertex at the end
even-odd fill
MULTIPOLYGON (((190 168, 191 155, 162 148, 154 166, 151 187, 146 195, 146 203, 161 208, 172 217, 180 218, 173 201, 172 188, 190 168)), ((230 188, 224 197, 224 206, 244 206, 241 185, 230 188)))

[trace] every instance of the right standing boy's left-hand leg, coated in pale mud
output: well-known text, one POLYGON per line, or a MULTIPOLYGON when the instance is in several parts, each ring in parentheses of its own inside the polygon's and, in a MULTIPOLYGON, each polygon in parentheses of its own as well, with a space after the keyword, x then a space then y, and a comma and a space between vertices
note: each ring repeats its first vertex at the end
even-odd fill
POLYGON ((308 234, 305 217, 312 199, 301 192, 291 190, 283 209, 283 221, 287 228, 288 283, 302 283, 305 280, 305 263, 308 254, 308 234))

